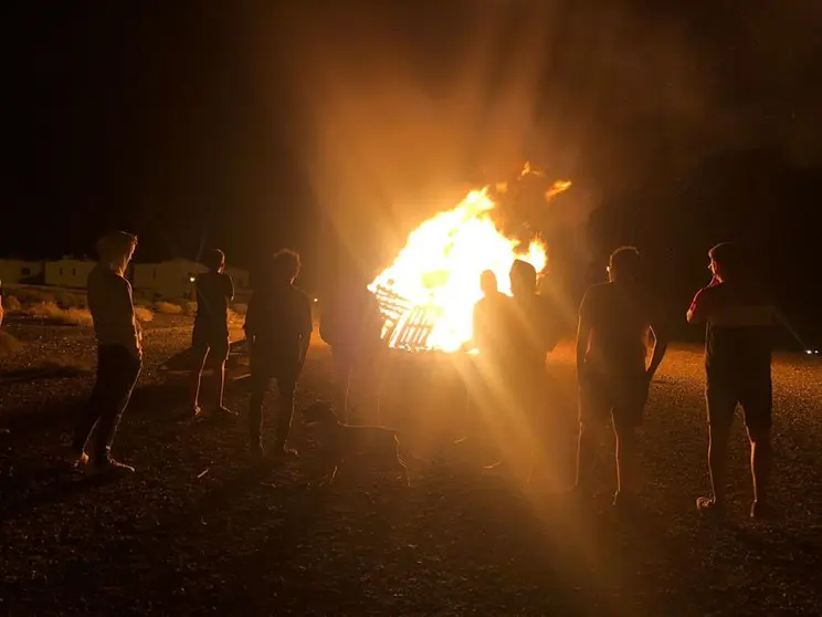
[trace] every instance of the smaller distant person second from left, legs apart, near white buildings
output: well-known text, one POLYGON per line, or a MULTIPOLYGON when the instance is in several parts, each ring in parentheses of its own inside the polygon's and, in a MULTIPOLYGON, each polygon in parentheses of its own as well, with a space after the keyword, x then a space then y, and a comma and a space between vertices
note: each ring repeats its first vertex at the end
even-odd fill
POLYGON ((205 253, 203 265, 208 272, 199 274, 194 286, 197 290, 197 316, 191 337, 192 378, 191 407, 194 417, 202 414, 200 408, 200 381, 205 360, 220 363, 217 374, 217 405, 214 409, 232 414, 223 405, 225 391, 225 360, 229 359, 229 303, 234 300, 234 282, 225 273, 225 253, 220 249, 212 249, 205 253))

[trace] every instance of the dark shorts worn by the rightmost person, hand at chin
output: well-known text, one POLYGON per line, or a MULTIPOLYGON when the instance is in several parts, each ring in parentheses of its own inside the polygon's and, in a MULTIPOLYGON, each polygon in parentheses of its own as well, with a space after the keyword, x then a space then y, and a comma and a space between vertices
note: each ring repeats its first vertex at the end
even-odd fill
POLYGON ((773 388, 770 379, 744 384, 708 383, 705 390, 708 423, 728 428, 734 422, 737 405, 742 408, 745 426, 753 431, 768 431, 772 425, 773 388))

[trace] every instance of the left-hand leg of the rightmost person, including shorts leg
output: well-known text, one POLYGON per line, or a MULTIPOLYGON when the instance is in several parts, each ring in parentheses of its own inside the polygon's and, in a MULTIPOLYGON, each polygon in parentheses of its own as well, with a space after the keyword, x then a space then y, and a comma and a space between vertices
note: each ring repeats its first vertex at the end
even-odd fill
POLYGON ((708 471, 710 473, 712 496, 699 498, 699 510, 721 510, 725 508, 728 466, 728 440, 736 414, 737 396, 730 388, 708 388, 705 395, 708 408, 708 471))

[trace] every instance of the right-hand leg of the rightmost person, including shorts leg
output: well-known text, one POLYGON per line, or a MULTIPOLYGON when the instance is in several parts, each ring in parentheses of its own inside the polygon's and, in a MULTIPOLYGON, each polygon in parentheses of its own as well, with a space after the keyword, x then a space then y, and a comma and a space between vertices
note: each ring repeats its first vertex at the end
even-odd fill
POLYGON ((762 391, 742 397, 741 405, 750 441, 750 473, 753 481, 753 504, 750 515, 768 516, 771 509, 768 489, 773 466, 773 449, 770 439, 772 423, 770 384, 767 388, 762 388, 762 391))

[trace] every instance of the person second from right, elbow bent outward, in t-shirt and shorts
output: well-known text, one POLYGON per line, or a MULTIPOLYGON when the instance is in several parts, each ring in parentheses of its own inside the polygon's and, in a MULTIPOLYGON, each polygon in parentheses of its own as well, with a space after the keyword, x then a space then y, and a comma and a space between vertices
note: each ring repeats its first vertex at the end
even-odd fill
POLYGON ((582 299, 577 331, 579 446, 577 487, 590 489, 602 429, 613 425, 616 438, 614 505, 630 505, 635 487, 635 429, 642 423, 649 387, 667 342, 649 295, 641 289, 640 253, 632 247, 611 254, 610 282, 593 285, 582 299), (654 351, 645 366, 646 336, 654 351))

